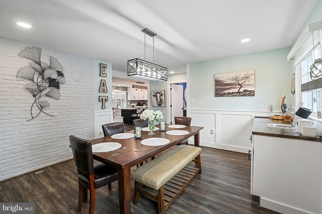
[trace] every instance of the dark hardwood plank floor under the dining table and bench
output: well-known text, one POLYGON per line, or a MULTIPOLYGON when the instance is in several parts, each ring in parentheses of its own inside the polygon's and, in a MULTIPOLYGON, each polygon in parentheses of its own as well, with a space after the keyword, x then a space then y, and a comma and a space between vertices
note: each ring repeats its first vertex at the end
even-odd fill
MULTIPOLYGON (((166 213, 277 213, 259 207, 258 197, 250 193, 248 154, 202 149, 202 174, 196 176, 166 213)), ((0 182, 0 201, 35 202, 36 213, 75 213, 78 183, 73 159, 42 170, 0 182)), ((132 201, 133 189, 134 181, 132 201)), ((88 209, 89 200, 83 203, 82 213, 88 213, 88 209)), ((131 212, 157 213, 157 204, 140 197, 139 203, 131 205, 131 212)), ((95 213, 119 213, 117 181, 112 183, 111 193, 107 186, 96 190, 95 213)))

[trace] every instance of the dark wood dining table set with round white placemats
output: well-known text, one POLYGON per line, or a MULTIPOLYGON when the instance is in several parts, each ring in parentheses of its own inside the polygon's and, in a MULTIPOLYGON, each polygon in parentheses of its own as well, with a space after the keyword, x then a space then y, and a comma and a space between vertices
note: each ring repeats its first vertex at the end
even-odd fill
MULTIPOLYGON (((142 131, 142 139, 113 139, 111 136, 101 137, 92 140, 92 144, 102 142, 118 142, 122 146, 119 149, 109 152, 93 152, 95 160, 110 164, 118 169, 118 187, 119 187, 119 204, 120 213, 131 213, 131 167, 140 164, 141 162, 156 156, 170 147, 182 142, 189 137, 194 136, 195 146, 199 147, 199 131, 203 129, 200 126, 186 126, 184 128, 170 128, 171 124, 167 124, 166 131, 170 130, 185 130, 188 134, 185 135, 169 135, 166 131, 155 130, 154 135, 148 135, 148 131, 142 131), (169 139, 170 142, 160 146, 146 146, 140 142, 144 139, 158 137, 169 139)), ((156 125, 158 127, 158 125, 156 125)), ((129 131, 134 133, 133 131, 129 131)))

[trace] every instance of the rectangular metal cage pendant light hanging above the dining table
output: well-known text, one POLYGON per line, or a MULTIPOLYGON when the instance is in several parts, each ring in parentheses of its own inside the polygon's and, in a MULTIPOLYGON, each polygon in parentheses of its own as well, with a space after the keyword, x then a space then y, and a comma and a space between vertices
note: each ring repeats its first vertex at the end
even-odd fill
POLYGON ((133 76, 154 81, 167 81, 168 69, 154 64, 154 36, 156 34, 145 28, 142 30, 144 33, 144 60, 138 58, 127 61, 127 76, 133 76), (153 63, 145 61, 145 35, 153 38, 153 63))

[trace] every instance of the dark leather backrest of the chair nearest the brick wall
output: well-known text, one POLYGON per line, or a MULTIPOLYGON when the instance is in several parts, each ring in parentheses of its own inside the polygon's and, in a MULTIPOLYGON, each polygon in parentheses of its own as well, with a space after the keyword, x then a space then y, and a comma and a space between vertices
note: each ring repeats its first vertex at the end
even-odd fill
POLYGON ((91 175, 94 173, 92 142, 82 138, 69 136, 70 148, 77 167, 78 174, 91 175))

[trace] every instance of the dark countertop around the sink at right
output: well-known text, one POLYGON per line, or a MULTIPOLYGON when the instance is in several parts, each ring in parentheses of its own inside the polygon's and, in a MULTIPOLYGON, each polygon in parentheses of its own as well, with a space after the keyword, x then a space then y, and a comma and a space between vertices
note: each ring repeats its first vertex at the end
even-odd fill
POLYGON ((292 122, 283 121, 283 120, 274 120, 268 117, 255 117, 252 134, 322 142, 322 138, 320 137, 302 136, 301 134, 297 133, 297 129, 268 127, 267 123, 291 124, 292 122))

